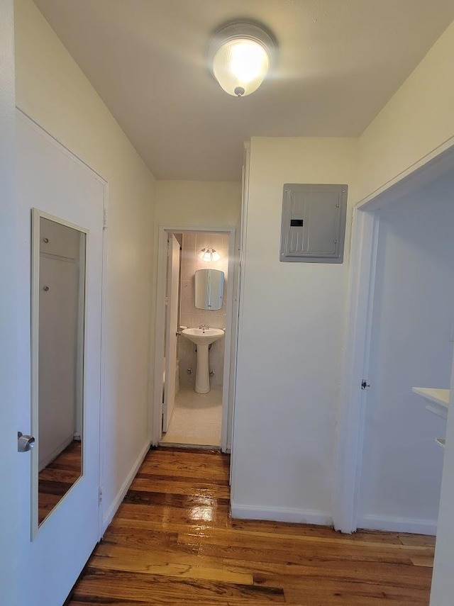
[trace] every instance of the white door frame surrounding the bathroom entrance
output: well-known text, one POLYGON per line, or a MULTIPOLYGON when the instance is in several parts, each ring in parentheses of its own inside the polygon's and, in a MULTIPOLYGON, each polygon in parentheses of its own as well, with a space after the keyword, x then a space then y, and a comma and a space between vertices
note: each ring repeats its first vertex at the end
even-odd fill
POLYGON ((160 225, 157 250, 157 292, 156 292, 156 314, 155 314, 155 369, 153 400, 151 402, 151 443, 157 446, 162 438, 162 371, 164 351, 164 327, 165 327, 165 276, 167 269, 167 236, 170 233, 184 234, 188 232, 209 232, 228 234, 228 280, 226 297, 226 336, 224 337, 224 367, 222 387, 222 427, 221 427, 221 450, 226 452, 231 449, 231 427, 229 427, 229 410, 233 407, 233 393, 231 389, 231 348, 235 347, 236 340, 233 332, 233 313, 235 313, 235 301, 233 301, 233 284, 236 276, 236 251, 235 239, 236 228, 233 227, 179 227, 160 225))

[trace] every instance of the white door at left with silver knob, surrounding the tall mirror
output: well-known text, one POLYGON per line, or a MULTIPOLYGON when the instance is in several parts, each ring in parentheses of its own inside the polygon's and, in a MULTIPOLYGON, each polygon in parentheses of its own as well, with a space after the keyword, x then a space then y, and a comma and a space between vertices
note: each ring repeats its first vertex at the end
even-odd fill
MULTIPOLYGON (((100 533, 98 490, 104 182, 31 120, 19 113, 17 122, 18 225, 21 241, 18 311, 21 320, 19 359, 22 379, 18 430, 24 434, 31 432, 31 391, 35 385, 35 381, 30 381, 29 378, 31 209, 37 208, 64 221, 66 225, 80 226, 86 232, 83 358, 80 367, 83 373, 82 476, 75 481, 35 533, 31 533, 31 520, 37 520, 38 497, 30 486, 31 478, 33 483, 32 474, 37 473, 38 465, 32 471, 31 453, 19 455, 19 602, 22 604, 32 601, 36 606, 62 606, 99 540, 100 533)), ((43 288, 42 284, 40 288, 43 288)), ((39 335, 38 338, 46 337, 49 335, 39 335)), ((34 387, 33 393, 36 392, 34 387)))

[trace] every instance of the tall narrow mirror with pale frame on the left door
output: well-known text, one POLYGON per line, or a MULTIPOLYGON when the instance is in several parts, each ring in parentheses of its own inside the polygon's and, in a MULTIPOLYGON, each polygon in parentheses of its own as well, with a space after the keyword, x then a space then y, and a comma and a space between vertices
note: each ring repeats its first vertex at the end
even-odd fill
POLYGON ((33 209, 32 536, 82 476, 87 232, 33 209))

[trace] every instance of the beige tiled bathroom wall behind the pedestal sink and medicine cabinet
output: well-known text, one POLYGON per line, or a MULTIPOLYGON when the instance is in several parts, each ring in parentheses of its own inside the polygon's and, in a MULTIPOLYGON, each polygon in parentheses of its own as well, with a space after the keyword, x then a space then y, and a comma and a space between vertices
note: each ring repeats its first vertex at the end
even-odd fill
MULTIPOLYGON (((182 243, 182 281, 180 285, 179 323, 189 328, 209 325, 211 328, 226 327, 226 287, 228 269, 228 235, 209 232, 184 233, 182 243), (219 261, 206 262, 200 258, 202 248, 214 248, 221 255, 219 261), (194 273, 197 269, 220 269, 225 274, 223 305, 219 310, 197 309, 194 305, 194 273)), ((194 386, 196 381, 196 346, 178 337, 179 384, 194 386), (192 374, 188 373, 192 370, 192 374)), ((224 337, 211 345, 209 352, 211 385, 222 385, 224 337)))

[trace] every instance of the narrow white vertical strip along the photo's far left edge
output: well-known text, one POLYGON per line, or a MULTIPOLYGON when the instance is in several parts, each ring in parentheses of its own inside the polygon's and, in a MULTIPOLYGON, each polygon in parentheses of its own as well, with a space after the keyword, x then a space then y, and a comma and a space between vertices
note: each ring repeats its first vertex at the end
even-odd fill
POLYGON ((18 234, 14 192, 13 2, 0 2, 0 601, 18 600, 17 342, 18 234))

